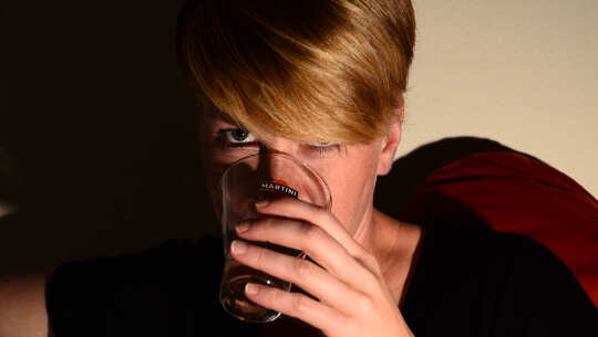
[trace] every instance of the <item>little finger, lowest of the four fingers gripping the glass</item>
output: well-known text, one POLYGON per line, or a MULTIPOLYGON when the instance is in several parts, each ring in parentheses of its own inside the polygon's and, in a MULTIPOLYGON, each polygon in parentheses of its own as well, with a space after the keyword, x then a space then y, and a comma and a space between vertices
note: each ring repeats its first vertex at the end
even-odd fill
POLYGON ((299 293, 249 283, 246 296, 258 305, 303 320, 323 331, 338 331, 348 318, 333 308, 299 293))

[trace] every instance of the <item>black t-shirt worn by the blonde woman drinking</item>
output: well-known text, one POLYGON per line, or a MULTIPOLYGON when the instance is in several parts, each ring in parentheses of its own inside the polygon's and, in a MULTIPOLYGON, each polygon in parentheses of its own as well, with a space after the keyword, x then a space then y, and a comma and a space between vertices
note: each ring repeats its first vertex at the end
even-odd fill
MULTIPOLYGON (((214 238, 65 263, 48 284, 50 324, 56 337, 255 336, 218 302, 221 266, 214 238)), ((546 248, 439 220, 401 312, 415 336, 598 336, 598 310, 546 248)))

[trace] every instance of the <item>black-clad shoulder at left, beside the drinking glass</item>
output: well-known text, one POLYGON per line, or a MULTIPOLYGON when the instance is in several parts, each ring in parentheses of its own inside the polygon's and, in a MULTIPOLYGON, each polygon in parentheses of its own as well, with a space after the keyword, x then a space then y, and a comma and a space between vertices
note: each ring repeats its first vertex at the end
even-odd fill
POLYGON ((62 264, 47 285, 50 324, 56 336, 83 336, 89 326, 112 335, 166 336, 171 317, 199 328, 199 312, 219 313, 214 294, 221 265, 215 238, 169 240, 137 254, 62 264), (124 333, 132 327, 134 334, 124 333))

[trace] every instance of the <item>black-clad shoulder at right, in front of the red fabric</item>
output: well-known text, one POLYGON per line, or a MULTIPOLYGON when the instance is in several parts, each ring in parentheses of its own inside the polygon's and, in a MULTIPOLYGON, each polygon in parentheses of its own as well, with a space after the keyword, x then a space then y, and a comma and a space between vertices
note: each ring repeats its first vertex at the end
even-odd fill
POLYGON ((590 336, 598 329, 589 297, 540 243, 444 221, 424 225, 423 240, 411 294, 417 315, 433 309, 445 317, 439 319, 452 317, 448 325, 497 336, 590 336), (417 297, 427 303, 417 304, 417 297))

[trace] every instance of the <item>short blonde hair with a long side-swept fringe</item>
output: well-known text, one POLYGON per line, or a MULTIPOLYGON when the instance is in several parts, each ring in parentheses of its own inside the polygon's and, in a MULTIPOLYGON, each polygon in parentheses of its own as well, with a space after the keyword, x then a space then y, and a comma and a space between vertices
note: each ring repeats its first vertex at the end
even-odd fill
POLYGON ((410 0, 190 0, 177 53, 202 101, 255 133, 367 143, 402 105, 410 0))

